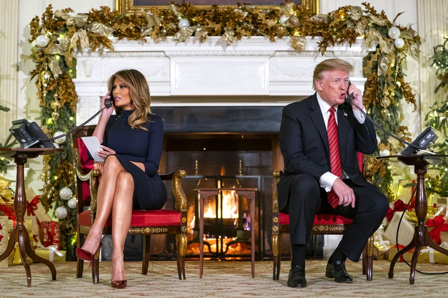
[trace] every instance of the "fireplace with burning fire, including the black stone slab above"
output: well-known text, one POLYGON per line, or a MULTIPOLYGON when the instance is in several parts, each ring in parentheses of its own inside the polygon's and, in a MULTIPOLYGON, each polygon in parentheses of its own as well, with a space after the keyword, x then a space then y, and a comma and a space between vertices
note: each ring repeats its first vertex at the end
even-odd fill
POLYGON ((184 169, 187 173, 182 179, 189 206, 187 258, 199 258, 200 187, 258 189, 253 219, 249 216, 249 202, 236 196, 234 191, 220 193, 205 202, 202 236, 205 258, 250 258, 250 229, 255 230, 256 258, 270 254, 272 169, 281 163, 278 148, 281 109, 153 109, 165 121, 161 169, 167 172, 184 169))

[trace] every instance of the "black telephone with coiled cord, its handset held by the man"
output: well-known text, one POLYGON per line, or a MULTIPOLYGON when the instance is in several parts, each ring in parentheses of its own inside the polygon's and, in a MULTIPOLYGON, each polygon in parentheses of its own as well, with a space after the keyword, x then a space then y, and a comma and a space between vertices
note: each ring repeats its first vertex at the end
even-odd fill
MULTIPOLYGON (((348 81, 348 87, 350 87, 350 85, 352 84, 352 82, 348 81)), ((392 133, 389 133, 388 131, 386 131, 384 129, 384 127, 382 127, 381 125, 379 125, 375 120, 373 120, 369 115, 367 115, 360 107, 358 107, 358 105, 352 103, 353 101, 353 93, 348 94, 348 89, 347 89, 347 97, 345 99, 345 101, 349 104, 353 104, 355 105, 355 107, 368 119, 370 120, 373 124, 375 124, 380 130, 382 130, 383 132, 385 132, 387 135, 393 137, 394 139, 398 140, 399 142, 407 145, 407 147, 401 152, 402 155, 408 155, 408 154, 417 154, 418 151, 422 150, 425 151, 425 149, 431 145, 434 145, 434 142, 436 141, 436 139, 438 138, 438 136, 436 135, 436 133, 434 132, 433 127, 428 126, 426 127, 426 129, 412 142, 407 142, 403 139, 400 139, 397 136, 394 136, 392 133)), ((426 153, 430 153, 430 154, 435 154, 433 152, 430 151, 425 151, 426 153)))

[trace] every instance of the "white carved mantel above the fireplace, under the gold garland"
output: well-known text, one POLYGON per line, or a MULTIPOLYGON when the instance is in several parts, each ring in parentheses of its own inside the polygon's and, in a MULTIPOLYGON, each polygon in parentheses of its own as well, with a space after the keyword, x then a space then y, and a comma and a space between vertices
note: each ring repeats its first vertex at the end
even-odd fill
POLYGON ((363 90, 362 58, 373 50, 362 38, 351 47, 327 48, 323 56, 319 38, 310 37, 303 51, 291 48, 289 38, 271 42, 260 36, 236 40, 231 46, 214 36, 203 43, 172 37, 162 42, 112 41, 114 51, 75 53, 78 124, 99 108, 107 79, 121 69, 134 68, 146 76, 154 106, 285 105, 314 93, 314 67, 328 57, 352 63, 350 79, 363 90))

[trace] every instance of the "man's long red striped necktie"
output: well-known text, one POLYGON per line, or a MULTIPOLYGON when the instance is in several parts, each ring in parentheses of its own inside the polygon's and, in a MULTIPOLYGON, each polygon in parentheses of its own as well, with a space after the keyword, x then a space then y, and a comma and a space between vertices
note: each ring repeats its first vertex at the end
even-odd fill
MULTIPOLYGON (((336 110, 331 107, 328 112, 330 113, 327 127, 328 144, 330 145, 330 166, 332 168, 332 173, 342 179, 341 156, 339 155, 338 125, 336 124, 335 118, 336 110)), ((333 189, 327 193, 327 200, 333 208, 336 208, 339 204, 339 198, 333 189)))

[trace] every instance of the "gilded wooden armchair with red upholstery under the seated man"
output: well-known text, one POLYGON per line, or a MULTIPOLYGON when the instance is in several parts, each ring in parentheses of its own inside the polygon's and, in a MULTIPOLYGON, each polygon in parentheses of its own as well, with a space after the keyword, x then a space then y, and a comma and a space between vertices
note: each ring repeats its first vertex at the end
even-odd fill
MULTIPOLYGON (((373 171, 368 169, 368 155, 358 154, 358 161, 363 177, 372 183, 373 171)), ((274 171, 275 185, 280 180, 281 171, 274 171)), ((334 214, 317 214, 314 219, 311 234, 340 235, 344 233, 347 225, 352 223, 351 219, 334 214)), ((279 280, 281 262, 282 234, 289 233, 289 215, 279 211, 277 187, 272 194, 272 279, 279 280)), ((362 252, 362 274, 366 280, 372 280, 373 270, 373 236, 371 236, 362 252)))

